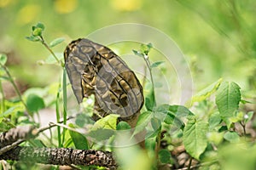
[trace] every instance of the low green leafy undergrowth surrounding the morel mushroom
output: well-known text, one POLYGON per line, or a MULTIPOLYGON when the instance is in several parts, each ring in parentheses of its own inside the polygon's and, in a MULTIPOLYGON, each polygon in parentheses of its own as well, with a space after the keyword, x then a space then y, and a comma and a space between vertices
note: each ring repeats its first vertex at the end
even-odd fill
POLYGON ((189 107, 158 104, 155 98, 154 69, 164 61, 155 61, 151 64, 151 43, 142 44, 139 50, 133 50, 134 54, 144 59, 150 75, 145 106, 134 129, 131 129, 127 122, 118 122, 119 116, 114 114, 92 122, 90 116, 93 111, 93 99, 84 99, 81 108, 74 111, 78 113, 75 115, 74 124, 67 126, 68 107, 72 105, 69 104, 68 95, 70 85, 63 68, 63 56, 52 51, 52 48, 63 42, 64 38, 56 38, 48 44, 44 41, 44 30, 45 26, 38 23, 32 26, 31 36, 26 38, 32 42, 41 42, 49 50, 51 55, 41 64, 61 63, 62 78, 49 87, 29 88, 26 93, 20 94, 14 77, 6 66, 8 58, 5 54, 0 54, 1 131, 20 124, 40 126, 35 116, 40 119, 42 109, 54 108, 57 129, 50 129, 49 137, 32 139, 26 142, 26 145, 111 150, 124 169, 156 169, 165 164, 171 166, 170 164, 174 164, 173 153, 177 151, 178 146, 184 146, 186 153, 191 159, 199 161, 198 166, 202 169, 214 169, 215 166, 224 169, 253 170, 256 155, 250 153, 256 153, 256 145, 247 132, 247 125, 254 121, 254 112, 246 107, 254 104, 250 101, 253 98, 248 98, 244 94, 246 90, 241 90, 236 82, 223 82, 224 78, 219 78, 195 94, 190 99, 189 107), (3 81, 10 82, 15 88, 17 98, 4 98, 3 81), (86 114, 88 112, 90 114, 86 114), (238 126, 241 126, 241 130, 238 126), (77 131, 78 127, 82 127, 84 133, 77 131), (135 144, 137 142, 133 141, 133 137, 142 133, 146 133, 145 150, 141 150, 135 144), (161 145, 163 142, 166 142, 166 146, 161 145))

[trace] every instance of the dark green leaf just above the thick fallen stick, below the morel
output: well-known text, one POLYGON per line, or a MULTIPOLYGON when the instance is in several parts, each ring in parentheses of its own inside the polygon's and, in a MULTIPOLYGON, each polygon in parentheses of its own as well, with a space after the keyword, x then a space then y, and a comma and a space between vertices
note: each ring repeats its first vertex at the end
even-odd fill
POLYGON ((71 139, 73 140, 73 144, 75 145, 76 149, 79 149, 79 150, 90 149, 88 140, 84 137, 84 135, 78 132, 74 132, 73 130, 68 130, 68 132, 71 136, 71 139))

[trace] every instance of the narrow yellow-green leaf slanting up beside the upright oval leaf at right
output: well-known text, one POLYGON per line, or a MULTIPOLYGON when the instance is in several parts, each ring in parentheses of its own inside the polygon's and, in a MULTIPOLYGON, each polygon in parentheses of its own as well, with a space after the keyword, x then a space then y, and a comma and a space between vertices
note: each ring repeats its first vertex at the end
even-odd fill
POLYGON ((204 99, 207 99, 210 95, 212 95, 219 87, 222 82, 222 78, 218 79, 217 82, 213 82, 207 88, 202 89, 198 94, 192 97, 191 105, 195 102, 201 102, 204 99))

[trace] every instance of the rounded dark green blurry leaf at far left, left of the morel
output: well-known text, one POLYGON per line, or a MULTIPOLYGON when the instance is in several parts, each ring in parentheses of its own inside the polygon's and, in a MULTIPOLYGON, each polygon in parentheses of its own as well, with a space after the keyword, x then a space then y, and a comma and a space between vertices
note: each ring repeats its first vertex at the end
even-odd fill
POLYGON ((29 94, 26 99, 26 105, 29 111, 37 112, 45 107, 44 99, 36 94, 29 94))

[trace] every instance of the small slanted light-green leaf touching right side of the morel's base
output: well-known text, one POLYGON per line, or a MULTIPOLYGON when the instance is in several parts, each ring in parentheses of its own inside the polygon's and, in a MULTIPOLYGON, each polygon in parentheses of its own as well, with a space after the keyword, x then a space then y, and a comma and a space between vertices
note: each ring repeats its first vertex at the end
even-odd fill
POLYGON ((150 122, 151 120, 151 117, 152 117, 152 112, 151 111, 145 111, 143 112, 139 117, 138 117, 138 120, 137 120, 137 125, 135 127, 135 130, 134 130, 134 133, 133 135, 141 132, 145 127, 148 126, 148 123, 150 122))

